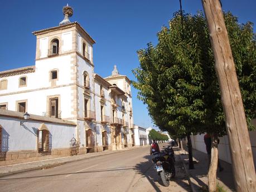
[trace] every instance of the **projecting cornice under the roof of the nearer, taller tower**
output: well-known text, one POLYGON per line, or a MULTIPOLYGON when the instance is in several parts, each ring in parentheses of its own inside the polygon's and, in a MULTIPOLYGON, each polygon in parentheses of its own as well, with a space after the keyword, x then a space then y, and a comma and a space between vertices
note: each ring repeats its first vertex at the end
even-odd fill
POLYGON ((70 27, 74 27, 74 26, 79 27, 80 29, 82 29, 82 31, 85 32, 86 36, 89 37, 92 44, 96 43, 94 41, 94 39, 88 34, 88 32, 86 32, 85 29, 83 27, 81 27, 79 22, 77 22, 77 21, 72 22, 72 23, 62 24, 61 26, 41 29, 39 31, 34 31, 32 33, 33 33, 33 35, 37 36, 37 35, 42 35, 42 34, 45 34, 45 33, 48 33, 48 32, 57 31, 57 30, 60 30, 60 29, 66 29, 66 28, 70 28, 70 27))

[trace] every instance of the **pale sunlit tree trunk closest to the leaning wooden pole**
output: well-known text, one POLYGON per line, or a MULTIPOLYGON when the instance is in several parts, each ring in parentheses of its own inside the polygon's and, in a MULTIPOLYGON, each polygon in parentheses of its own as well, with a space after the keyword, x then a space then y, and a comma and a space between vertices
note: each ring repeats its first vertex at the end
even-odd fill
POLYGON ((211 136, 211 163, 208 171, 208 189, 209 192, 216 191, 216 174, 218 168, 218 137, 211 136))

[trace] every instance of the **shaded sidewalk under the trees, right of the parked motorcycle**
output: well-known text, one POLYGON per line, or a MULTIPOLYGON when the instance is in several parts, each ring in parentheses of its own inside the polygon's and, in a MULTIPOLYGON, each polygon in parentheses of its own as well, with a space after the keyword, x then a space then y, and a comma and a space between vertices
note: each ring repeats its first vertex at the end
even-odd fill
MULTIPOLYGON (((193 160, 195 169, 189 169, 189 155, 186 150, 180 150, 180 157, 183 160, 183 164, 187 173, 189 175, 189 179, 191 181, 192 191, 202 191, 202 186, 207 186, 207 154, 201 151, 197 151, 193 149, 193 160)), ((234 183, 233 183, 233 173, 231 165, 226 163, 225 161, 220 160, 221 166, 223 166, 224 170, 219 172, 217 171, 217 183, 226 191, 235 191, 234 183)))

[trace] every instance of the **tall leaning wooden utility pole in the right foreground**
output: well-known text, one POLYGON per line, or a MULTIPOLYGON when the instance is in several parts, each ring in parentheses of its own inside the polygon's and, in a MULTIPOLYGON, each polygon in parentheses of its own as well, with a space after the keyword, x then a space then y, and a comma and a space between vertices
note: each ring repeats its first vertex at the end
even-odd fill
POLYGON ((236 191, 254 192, 256 175, 252 147, 223 12, 217 0, 202 0, 202 4, 210 31, 215 71, 220 85, 236 191))

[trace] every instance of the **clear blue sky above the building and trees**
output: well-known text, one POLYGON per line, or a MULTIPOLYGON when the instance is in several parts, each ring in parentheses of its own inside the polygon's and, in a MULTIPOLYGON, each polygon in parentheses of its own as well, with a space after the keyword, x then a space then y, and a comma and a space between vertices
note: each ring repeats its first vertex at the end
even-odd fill
MULTIPOLYGON (((157 43, 157 32, 168 26, 172 14, 180 8, 178 0, 73 0, 14 1, 0 0, 0 71, 35 65, 36 38, 31 32, 58 26, 62 7, 74 9, 71 21, 78 21, 94 38, 94 71, 102 77, 111 74, 117 65, 119 73, 135 80, 132 69, 138 67, 136 51, 148 42, 157 43)), ((256 23, 254 0, 222 0, 223 10, 231 11, 240 23, 256 23)), ((201 0, 183 0, 186 13, 202 10, 201 0)), ((255 30, 254 26, 254 32, 255 30)), ((152 126, 145 105, 132 88, 134 123, 152 126)))

